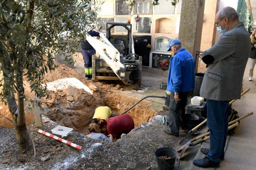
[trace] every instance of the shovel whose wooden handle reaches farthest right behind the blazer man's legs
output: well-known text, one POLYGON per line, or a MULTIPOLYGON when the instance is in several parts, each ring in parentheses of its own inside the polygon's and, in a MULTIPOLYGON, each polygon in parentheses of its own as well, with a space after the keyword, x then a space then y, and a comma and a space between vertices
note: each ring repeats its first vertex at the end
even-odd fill
MULTIPOLYGON (((250 115, 252 115, 252 114, 253 114, 253 112, 248 113, 248 114, 246 114, 246 115, 244 115, 244 116, 242 116, 242 117, 239 117, 239 118, 237 118, 236 120, 233 120, 233 121, 229 122, 229 125, 232 125, 233 123, 235 123, 235 122, 237 122, 237 121, 239 121, 239 120, 241 120, 241 119, 243 119, 243 118, 245 118, 245 117, 247 117, 247 116, 250 116, 250 115)), ((198 139, 203 138, 204 136, 207 136, 207 135, 209 135, 209 134, 210 134, 210 132, 207 132, 207 133, 204 133, 204 134, 202 134, 202 135, 197 136, 197 137, 194 138, 194 139, 190 139, 190 138, 184 138, 184 139, 182 139, 182 141, 180 142, 180 145, 182 145, 182 144, 184 144, 184 145, 182 145, 180 148, 178 148, 177 151, 178 151, 178 152, 181 151, 186 145, 190 145, 191 142, 197 141, 198 139)))

